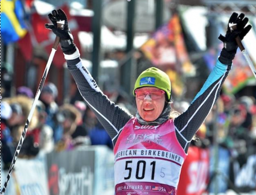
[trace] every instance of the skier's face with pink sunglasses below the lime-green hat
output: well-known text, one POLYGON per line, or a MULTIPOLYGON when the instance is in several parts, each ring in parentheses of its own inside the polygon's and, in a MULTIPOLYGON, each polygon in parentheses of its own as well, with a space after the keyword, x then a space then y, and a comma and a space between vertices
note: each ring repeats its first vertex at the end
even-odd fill
POLYGON ((165 102, 164 91, 154 87, 135 90, 138 113, 144 121, 155 121, 163 111, 165 102))

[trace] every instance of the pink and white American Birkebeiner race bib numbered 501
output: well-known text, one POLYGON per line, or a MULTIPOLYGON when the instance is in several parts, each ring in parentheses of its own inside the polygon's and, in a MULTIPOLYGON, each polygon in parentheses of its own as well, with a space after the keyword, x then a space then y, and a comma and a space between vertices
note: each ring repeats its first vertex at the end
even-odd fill
POLYGON ((187 156, 176 138, 174 121, 126 123, 114 147, 115 194, 176 194, 187 156))

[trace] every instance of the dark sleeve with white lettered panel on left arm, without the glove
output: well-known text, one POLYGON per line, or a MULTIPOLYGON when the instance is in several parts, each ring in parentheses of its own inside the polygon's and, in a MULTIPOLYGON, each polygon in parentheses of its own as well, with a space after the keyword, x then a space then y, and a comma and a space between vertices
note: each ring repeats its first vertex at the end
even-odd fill
POLYGON ((123 126, 130 120, 132 115, 126 113, 118 105, 102 93, 95 80, 84 67, 80 58, 67 60, 68 69, 70 70, 77 88, 84 98, 86 104, 96 114, 102 126, 108 132, 115 145, 119 133, 123 126))

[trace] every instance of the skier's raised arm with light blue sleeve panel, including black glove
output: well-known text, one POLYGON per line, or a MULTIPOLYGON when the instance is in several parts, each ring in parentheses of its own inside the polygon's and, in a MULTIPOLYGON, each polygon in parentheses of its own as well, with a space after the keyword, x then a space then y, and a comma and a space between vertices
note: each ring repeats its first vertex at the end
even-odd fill
POLYGON ((232 60, 237 52, 238 46, 235 39, 237 36, 240 36, 242 40, 251 29, 250 25, 246 26, 247 22, 248 18, 245 18, 244 14, 239 16, 237 13, 232 14, 229 19, 226 36, 221 35, 219 37, 224 42, 224 48, 221 51, 220 57, 218 57, 216 66, 207 78, 203 88, 193 99, 188 110, 174 121, 177 139, 185 152, 188 151, 193 136, 199 130, 199 127, 204 122, 220 94, 222 84, 228 76, 228 72, 232 67, 232 60), (234 31, 230 29, 230 26, 232 26, 230 24, 237 24, 237 29, 234 31))

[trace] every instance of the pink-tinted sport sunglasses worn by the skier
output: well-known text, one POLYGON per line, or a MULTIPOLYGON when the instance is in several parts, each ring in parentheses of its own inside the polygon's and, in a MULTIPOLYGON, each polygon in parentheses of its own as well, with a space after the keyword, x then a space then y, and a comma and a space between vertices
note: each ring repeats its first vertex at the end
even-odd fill
POLYGON ((135 97, 138 99, 144 99, 147 95, 151 97, 151 99, 160 99, 163 97, 165 92, 161 89, 136 89, 135 90, 135 97))

